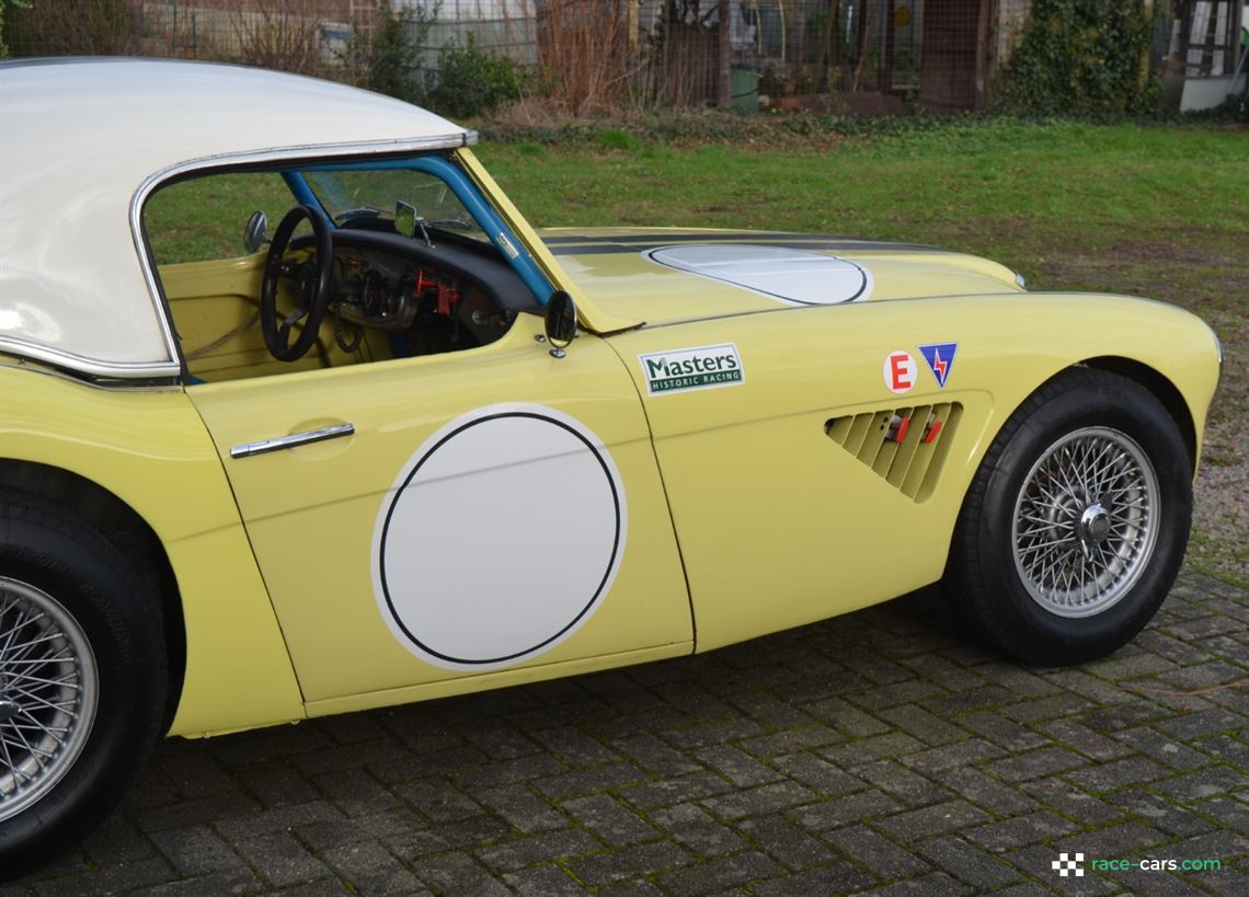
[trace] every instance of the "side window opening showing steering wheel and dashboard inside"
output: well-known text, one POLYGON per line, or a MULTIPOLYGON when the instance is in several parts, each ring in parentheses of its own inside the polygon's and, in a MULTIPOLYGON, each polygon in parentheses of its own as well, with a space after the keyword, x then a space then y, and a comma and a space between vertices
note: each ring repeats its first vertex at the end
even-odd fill
POLYGON ((147 197, 144 230, 189 384, 477 349, 540 310, 440 176, 367 161, 289 176, 295 192, 270 169, 209 172, 147 197), (315 214, 282 227, 296 194, 315 214), (269 240, 249 252, 257 211, 269 240))

